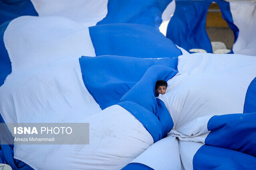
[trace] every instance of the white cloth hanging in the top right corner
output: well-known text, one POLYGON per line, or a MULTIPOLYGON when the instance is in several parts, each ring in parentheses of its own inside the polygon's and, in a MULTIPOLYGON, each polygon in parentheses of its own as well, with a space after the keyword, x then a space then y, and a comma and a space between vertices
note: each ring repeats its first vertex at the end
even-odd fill
POLYGON ((233 45, 235 54, 256 56, 256 1, 229 1, 234 24, 239 29, 233 45))

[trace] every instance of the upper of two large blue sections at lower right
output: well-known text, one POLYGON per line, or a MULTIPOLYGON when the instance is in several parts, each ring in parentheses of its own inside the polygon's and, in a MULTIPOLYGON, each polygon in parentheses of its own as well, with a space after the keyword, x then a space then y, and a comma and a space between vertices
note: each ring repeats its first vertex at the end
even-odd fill
MULTIPOLYGON (((256 113, 213 116, 205 144, 256 156, 256 113)), ((256 159, 256 158, 255 158, 256 159)))

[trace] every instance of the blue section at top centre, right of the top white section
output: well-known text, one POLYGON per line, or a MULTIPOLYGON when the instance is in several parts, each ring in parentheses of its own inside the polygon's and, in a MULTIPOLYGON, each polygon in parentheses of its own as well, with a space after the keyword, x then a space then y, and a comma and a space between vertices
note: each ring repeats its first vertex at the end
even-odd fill
POLYGON ((106 23, 138 23, 158 29, 162 13, 172 0, 108 0, 108 14, 97 25, 106 23))

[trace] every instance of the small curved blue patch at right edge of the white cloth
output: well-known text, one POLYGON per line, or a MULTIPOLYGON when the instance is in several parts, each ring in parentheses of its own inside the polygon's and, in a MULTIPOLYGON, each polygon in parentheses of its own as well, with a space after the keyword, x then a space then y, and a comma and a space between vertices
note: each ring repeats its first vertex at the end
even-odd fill
POLYGON ((244 101, 244 113, 256 112, 256 77, 250 83, 244 101))

